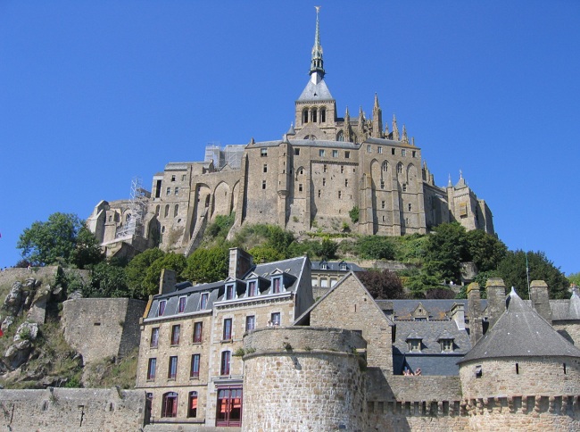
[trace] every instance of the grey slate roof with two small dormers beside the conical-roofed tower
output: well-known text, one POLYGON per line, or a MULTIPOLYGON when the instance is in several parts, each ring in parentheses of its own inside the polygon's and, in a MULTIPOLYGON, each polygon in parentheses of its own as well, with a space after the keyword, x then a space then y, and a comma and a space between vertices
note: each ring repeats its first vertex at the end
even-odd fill
POLYGON ((423 375, 453 376, 459 374, 457 361, 471 349, 468 332, 457 328, 455 321, 396 321, 393 344, 393 372, 404 368, 423 375), (421 339, 421 352, 409 351, 409 339, 421 339), (440 339, 453 339, 453 352, 442 353, 440 339))

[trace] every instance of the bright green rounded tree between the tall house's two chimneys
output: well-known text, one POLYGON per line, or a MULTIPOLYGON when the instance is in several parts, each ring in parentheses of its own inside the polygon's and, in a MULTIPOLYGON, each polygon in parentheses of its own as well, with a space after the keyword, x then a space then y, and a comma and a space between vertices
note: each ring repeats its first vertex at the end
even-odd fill
POLYGON ((216 282, 228 277, 228 249, 198 248, 187 258, 183 277, 194 282, 216 282))

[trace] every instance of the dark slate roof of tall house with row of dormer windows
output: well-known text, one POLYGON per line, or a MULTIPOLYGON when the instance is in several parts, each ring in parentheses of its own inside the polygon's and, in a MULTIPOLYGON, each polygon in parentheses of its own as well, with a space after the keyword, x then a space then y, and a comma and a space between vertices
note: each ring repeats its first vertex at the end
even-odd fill
POLYGON ((218 282, 211 282, 208 284, 200 284, 191 286, 189 282, 181 282, 176 285, 176 290, 168 294, 154 295, 153 302, 146 319, 160 318, 158 316, 159 304, 162 300, 166 301, 165 312, 163 318, 170 318, 172 316, 180 316, 187 313, 194 312, 211 312, 213 304, 224 299, 225 287, 229 283, 236 284, 236 300, 246 298, 246 287, 250 280, 258 281, 258 288, 260 295, 257 295, 256 300, 265 298, 269 295, 269 288, 271 285, 271 278, 278 272, 282 275, 283 286, 286 293, 295 293, 302 278, 302 270, 307 262, 306 257, 291 258, 289 260, 282 260, 277 262, 266 262, 257 264, 252 267, 241 279, 226 278, 218 282), (202 293, 209 293, 208 303, 205 309, 200 310, 200 299, 202 293), (186 296, 186 307, 184 312, 178 312, 179 297, 186 296))

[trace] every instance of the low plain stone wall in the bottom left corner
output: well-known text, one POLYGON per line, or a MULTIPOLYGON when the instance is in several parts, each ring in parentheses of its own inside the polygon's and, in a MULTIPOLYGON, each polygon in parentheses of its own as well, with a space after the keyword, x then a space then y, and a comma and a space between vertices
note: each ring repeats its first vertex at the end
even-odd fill
POLYGON ((148 420, 145 403, 145 392, 139 390, 0 390, 0 428, 42 432, 139 430, 148 420))

